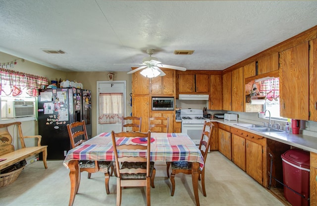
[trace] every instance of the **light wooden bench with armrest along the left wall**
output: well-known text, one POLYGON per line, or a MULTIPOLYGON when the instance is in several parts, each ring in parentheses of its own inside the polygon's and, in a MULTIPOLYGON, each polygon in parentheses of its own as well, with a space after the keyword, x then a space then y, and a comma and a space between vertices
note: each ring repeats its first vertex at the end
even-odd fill
POLYGON ((0 161, 0 169, 8 167, 12 164, 22 161, 35 154, 43 154, 44 167, 47 169, 48 165, 47 159, 47 147, 41 146, 41 135, 34 136, 23 136, 21 122, 13 122, 8 124, 0 124, 0 158, 5 160, 0 161), (21 149, 15 150, 12 145, 12 136, 8 131, 8 127, 11 125, 17 125, 18 133, 21 141, 21 149), (25 147, 24 138, 38 138, 38 146, 35 147, 25 147))

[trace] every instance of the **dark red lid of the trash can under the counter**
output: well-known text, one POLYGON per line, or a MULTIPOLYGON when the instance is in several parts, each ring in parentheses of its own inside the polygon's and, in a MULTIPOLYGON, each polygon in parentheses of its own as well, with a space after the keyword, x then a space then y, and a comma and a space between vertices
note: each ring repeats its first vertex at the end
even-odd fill
POLYGON ((310 153, 304 150, 291 149, 281 155, 282 159, 287 160, 299 167, 310 168, 310 153))

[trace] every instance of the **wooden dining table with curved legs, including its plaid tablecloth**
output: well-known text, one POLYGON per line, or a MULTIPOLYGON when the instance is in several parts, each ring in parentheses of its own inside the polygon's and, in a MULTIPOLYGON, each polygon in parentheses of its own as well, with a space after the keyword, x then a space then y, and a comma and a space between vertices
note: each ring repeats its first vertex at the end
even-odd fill
MULTIPOLYGON (((136 144, 130 138, 116 138, 116 144, 136 144)), ((141 143, 142 144, 142 143, 141 143)), ((146 142, 145 142, 146 144, 146 142)), ((131 154, 129 151, 118 151, 118 156, 140 155, 138 152, 131 154)), ((199 170, 204 167, 203 156, 197 145, 186 133, 151 133, 151 161, 190 161, 192 164, 192 183, 196 201, 199 206, 198 180, 199 170)), ((103 132, 83 144, 68 151, 63 165, 68 168, 70 178, 70 198, 69 206, 73 205, 76 192, 79 187, 79 160, 104 160, 114 161, 111 132, 103 132)))

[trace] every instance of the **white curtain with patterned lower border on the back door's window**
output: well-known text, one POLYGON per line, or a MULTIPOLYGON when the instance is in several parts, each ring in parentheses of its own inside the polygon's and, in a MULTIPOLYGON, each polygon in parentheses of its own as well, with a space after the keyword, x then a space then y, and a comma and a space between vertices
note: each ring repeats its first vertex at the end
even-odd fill
POLYGON ((99 124, 121 122, 123 110, 122 93, 99 94, 99 124))

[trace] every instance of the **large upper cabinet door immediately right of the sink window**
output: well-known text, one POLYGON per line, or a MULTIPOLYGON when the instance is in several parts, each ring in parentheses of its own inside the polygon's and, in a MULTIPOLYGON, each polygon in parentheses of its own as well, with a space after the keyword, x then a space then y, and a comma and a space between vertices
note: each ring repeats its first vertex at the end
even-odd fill
POLYGON ((308 42, 280 53, 280 115, 309 119, 308 42))

